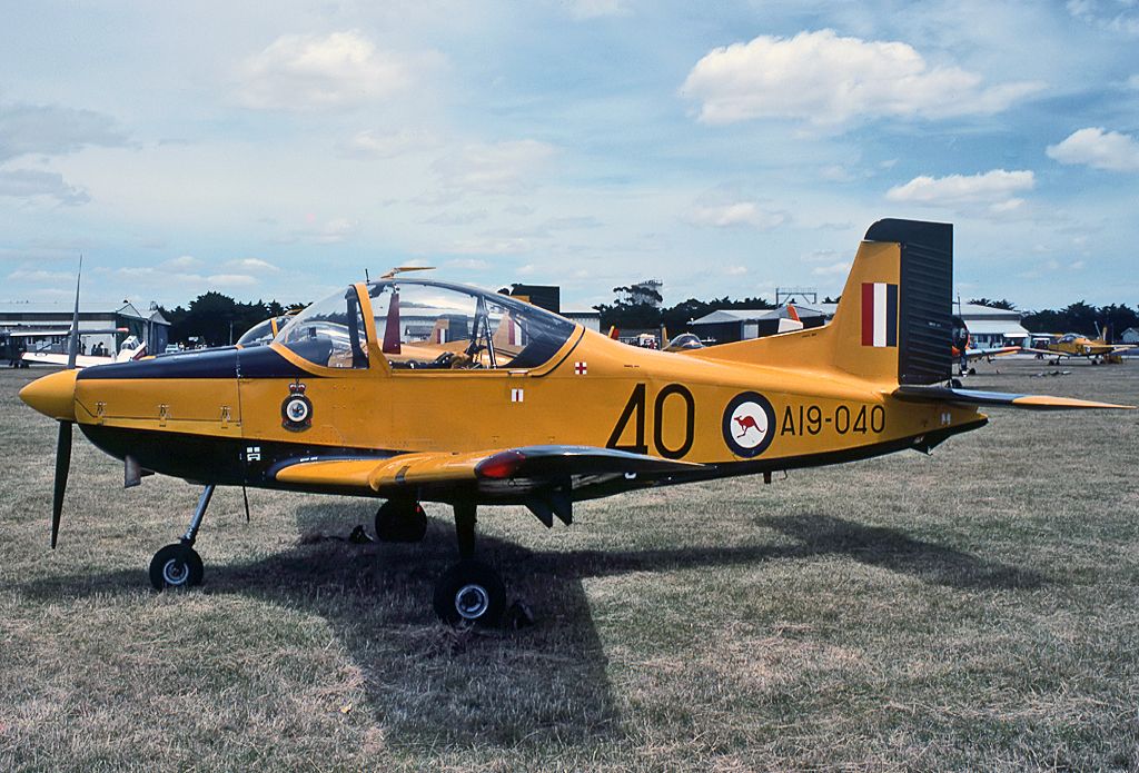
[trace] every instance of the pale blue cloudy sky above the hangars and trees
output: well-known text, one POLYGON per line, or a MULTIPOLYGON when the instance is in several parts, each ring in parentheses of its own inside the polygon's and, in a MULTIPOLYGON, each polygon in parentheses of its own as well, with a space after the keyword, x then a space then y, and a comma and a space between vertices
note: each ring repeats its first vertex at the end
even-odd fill
POLYGON ((1139 304, 1139 3, 16 3, 0 301, 837 294, 877 219, 966 296, 1139 304))

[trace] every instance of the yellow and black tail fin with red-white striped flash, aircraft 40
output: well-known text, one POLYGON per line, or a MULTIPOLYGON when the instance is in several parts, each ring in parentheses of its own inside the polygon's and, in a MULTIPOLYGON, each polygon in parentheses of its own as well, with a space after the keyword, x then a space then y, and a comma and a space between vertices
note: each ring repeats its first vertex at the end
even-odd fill
POLYGON ((818 363, 879 383, 952 375, 953 227, 880 220, 854 256, 834 320, 771 338, 693 352, 713 360, 818 363))

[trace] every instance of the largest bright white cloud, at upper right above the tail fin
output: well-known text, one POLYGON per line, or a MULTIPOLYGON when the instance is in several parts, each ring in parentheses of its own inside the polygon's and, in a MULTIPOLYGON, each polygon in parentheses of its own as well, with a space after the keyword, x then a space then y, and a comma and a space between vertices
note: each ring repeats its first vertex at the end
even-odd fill
POLYGON ((959 67, 929 67, 907 43, 821 30, 713 49, 696 63, 680 92, 700 102, 704 123, 794 118, 833 126, 859 118, 998 113, 1042 88, 982 88, 981 81, 959 67))

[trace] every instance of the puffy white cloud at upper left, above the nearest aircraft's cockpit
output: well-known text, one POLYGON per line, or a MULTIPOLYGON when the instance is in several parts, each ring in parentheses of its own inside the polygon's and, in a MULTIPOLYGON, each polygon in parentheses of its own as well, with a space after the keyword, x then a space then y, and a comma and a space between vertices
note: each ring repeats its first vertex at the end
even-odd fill
POLYGON ((415 79, 416 64, 377 50, 355 30, 281 35, 244 63, 238 99, 257 109, 353 107, 407 88, 415 79))

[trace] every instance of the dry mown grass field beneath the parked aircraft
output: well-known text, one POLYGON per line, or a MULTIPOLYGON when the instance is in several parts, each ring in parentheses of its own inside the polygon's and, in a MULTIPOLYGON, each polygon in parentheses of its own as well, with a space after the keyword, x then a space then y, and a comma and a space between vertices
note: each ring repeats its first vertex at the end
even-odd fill
MULTIPOLYGON (((1139 404, 1139 362, 968 386, 1139 404)), ((481 513, 534 627, 431 611, 456 549, 355 545, 374 503, 219 491, 202 589, 149 590, 198 490, 0 371, 0 771, 1136 770, 1139 412, 993 410, 933 457, 481 513)))

